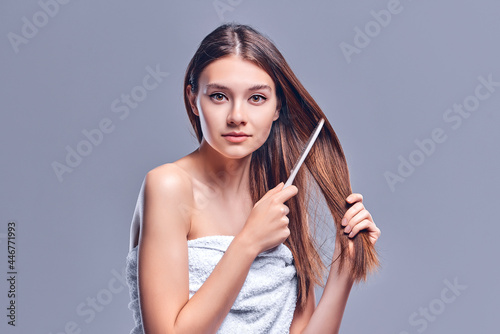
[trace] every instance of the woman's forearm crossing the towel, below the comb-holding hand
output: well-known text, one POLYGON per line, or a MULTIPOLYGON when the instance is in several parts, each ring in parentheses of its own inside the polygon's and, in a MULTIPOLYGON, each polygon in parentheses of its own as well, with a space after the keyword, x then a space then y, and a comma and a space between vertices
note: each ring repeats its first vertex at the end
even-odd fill
POLYGON ((236 236, 200 289, 179 312, 175 333, 215 333, 238 296, 257 253, 236 236))

